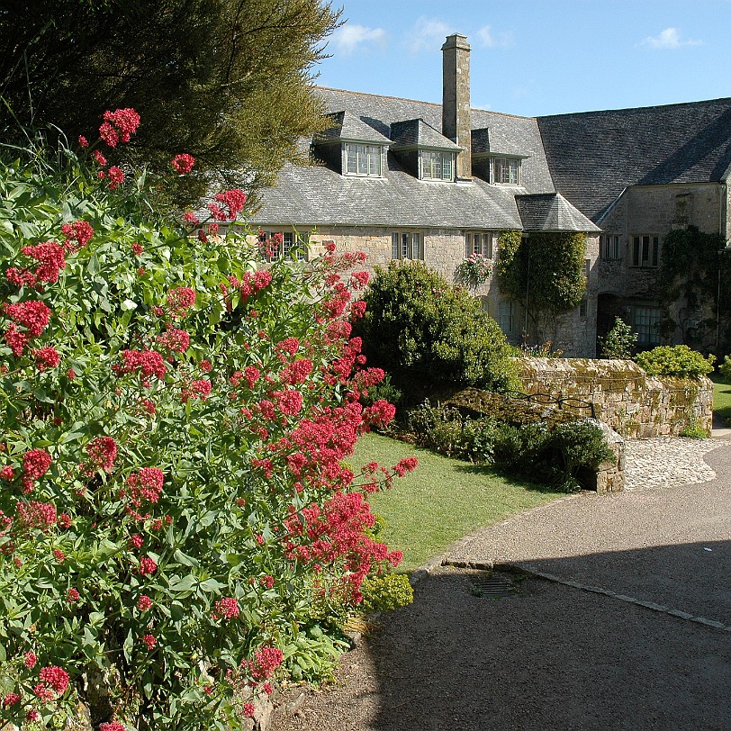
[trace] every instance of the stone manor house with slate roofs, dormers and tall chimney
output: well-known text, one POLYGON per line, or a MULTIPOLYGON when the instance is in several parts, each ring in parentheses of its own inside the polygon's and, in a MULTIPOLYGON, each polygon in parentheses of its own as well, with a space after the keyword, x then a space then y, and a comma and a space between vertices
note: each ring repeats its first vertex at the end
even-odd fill
MULTIPOLYGON (((254 224, 282 233, 285 251, 314 230, 311 248, 331 240, 365 251, 370 266, 420 259, 449 281, 473 252, 494 259, 501 231, 581 231, 586 296, 561 317, 555 347, 594 356, 617 315, 638 347, 659 344, 663 237, 692 225, 731 239, 731 98, 546 117, 487 112, 470 107, 465 36, 447 37, 442 51, 442 104, 319 87, 332 125, 304 142, 319 164, 285 166, 254 224)), ((503 296, 494 275, 478 295, 519 343, 522 302, 503 296)))

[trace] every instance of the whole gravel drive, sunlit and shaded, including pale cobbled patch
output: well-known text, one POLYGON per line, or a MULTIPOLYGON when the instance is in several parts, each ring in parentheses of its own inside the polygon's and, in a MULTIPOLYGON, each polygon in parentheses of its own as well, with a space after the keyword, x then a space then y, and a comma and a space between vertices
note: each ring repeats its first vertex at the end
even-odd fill
POLYGON ((457 542, 449 561, 532 574, 492 599, 432 567, 274 731, 727 731, 731 441, 630 442, 627 474, 457 542))

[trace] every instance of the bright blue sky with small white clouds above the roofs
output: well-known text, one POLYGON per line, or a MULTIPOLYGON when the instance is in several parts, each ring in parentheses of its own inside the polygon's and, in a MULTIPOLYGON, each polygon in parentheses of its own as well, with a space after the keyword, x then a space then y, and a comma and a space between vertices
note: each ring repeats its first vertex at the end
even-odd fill
POLYGON ((731 96, 731 0, 337 0, 317 84, 441 101, 472 46, 472 105, 539 116, 731 96))

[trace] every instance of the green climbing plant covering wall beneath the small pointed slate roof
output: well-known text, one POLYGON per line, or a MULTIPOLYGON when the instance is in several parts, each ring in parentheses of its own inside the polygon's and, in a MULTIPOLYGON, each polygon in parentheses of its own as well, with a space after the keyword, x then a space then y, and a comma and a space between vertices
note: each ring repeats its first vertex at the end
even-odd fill
POLYGON ((555 319, 572 310, 586 292, 583 276, 585 236, 570 231, 505 231, 497 266, 501 291, 528 311, 528 338, 552 337, 555 319))

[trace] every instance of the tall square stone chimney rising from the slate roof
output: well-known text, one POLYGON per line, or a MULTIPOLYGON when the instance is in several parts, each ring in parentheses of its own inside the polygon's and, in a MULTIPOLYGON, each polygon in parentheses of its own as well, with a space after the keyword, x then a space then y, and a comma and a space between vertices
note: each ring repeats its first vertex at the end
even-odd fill
POLYGON ((447 36, 442 46, 442 75, 442 134, 462 148, 456 159, 457 180, 471 180, 470 44, 466 36, 447 36))

